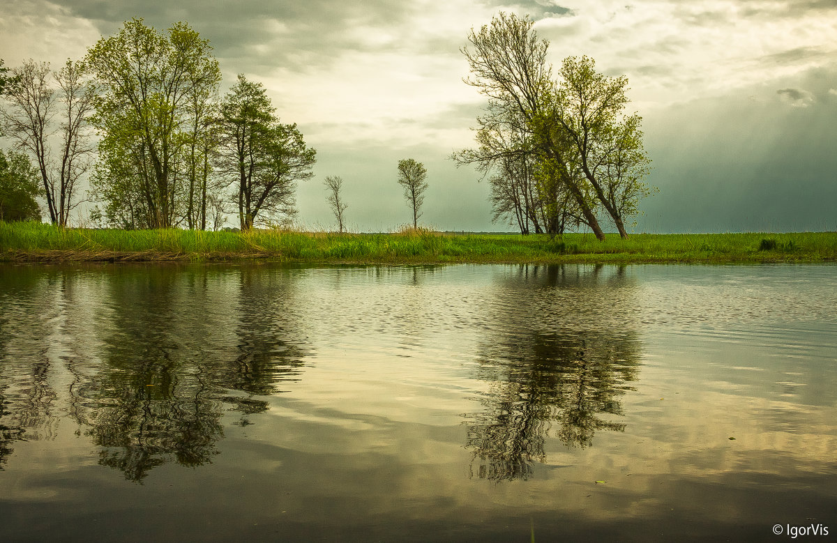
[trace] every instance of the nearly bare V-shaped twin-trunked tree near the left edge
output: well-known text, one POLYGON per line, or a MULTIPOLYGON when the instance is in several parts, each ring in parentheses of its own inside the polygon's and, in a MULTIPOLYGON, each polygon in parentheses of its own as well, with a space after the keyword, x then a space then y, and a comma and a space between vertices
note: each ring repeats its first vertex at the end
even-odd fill
POLYGON ((90 86, 80 65, 69 59, 58 72, 29 59, 12 74, 5 93, 8 107, 0 118, 17 146, 38 164, 50 221, 66 226, 69 213, 79 204, 76 188, 93 151, 87 133, 93 100, 90 86), (61 122, 54 128, 56 115, 61 122), (55 134, 57 150, 50 145, 55 134))

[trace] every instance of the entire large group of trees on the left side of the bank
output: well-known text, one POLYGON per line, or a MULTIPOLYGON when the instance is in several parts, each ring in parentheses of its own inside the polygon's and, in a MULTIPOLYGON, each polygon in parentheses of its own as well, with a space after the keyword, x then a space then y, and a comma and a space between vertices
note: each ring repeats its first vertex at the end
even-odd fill
MULTIPOLYGON (((106 226, 217 229, 228 213, 243 230, 285 223, 316 151, 295 125, 280 122, 261 84, 239 75, 220 98, 220 83, 208 40, 186 23, 161 33, 141 18, 58 72, 33 60, 13 69, 0 61, 0 129, 35 163, 27 170, 21 156, 6 155, 0 179, 34 172, 49 220, 62 226, 88 172, 88 196, 102 204, 91 218, 106 226), (11 164, 17 169, 7 174, 11 164)), ((3 187, 3 195, 26 192, 3 187)), ((39 218, 23 213, 26 203, 14 217, 39 218)))

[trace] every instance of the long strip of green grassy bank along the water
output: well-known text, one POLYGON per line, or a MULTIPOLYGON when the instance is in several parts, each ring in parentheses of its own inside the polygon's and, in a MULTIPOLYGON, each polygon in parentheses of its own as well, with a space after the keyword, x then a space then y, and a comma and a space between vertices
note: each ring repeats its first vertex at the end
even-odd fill
POLYGON ((590 234, 250 233, 93 230, 0 222, 0 260, 155 261, 268 259, 328 263, 733 263, 837 260, 837 233, 590 234))

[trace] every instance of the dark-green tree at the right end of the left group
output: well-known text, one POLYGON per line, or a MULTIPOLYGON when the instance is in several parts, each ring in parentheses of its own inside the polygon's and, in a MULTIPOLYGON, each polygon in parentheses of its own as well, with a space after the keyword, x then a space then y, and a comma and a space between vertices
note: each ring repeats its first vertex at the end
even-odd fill
POLYGON ((280 123, 264 86, 243 74, 220 109, 218 163, 237 185, 240 228, 289 220, 296 213, 295 182, 313 175, 316 151, 296 125, 280 123))

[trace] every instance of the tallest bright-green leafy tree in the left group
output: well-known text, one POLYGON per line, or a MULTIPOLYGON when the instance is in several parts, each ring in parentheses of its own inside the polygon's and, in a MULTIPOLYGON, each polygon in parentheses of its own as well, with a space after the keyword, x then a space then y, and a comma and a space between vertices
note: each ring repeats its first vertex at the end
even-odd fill
POLYGON ((194 226, 198 164, 208 162, 198 149, 221 79, 218 61, 186 23, 158 33, 142 21, 126 21, 85 58, 102 90, 94 124, 102 133, 98 178, 109 185, 100 192, 133 198, 148 228, 170 228, 186 216, 194 226))

